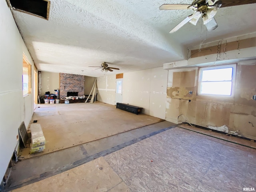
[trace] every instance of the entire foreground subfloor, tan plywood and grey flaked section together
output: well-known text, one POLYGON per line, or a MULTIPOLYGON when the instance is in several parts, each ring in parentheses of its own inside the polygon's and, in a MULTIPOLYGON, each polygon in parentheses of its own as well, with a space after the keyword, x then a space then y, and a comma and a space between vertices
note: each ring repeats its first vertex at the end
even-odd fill
POLYGON ((16 191, 241 192, 255 188, 256 149, 171 128, 16 191))

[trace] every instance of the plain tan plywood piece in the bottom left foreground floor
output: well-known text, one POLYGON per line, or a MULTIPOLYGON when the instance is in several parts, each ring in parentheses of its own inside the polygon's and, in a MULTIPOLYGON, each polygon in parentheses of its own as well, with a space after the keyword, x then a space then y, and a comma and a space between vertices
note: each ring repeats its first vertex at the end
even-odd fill
POLYGON ((130 192, 130 189, 106 160, 100 157, 58 175, 12 190, 28 191, 130 192))

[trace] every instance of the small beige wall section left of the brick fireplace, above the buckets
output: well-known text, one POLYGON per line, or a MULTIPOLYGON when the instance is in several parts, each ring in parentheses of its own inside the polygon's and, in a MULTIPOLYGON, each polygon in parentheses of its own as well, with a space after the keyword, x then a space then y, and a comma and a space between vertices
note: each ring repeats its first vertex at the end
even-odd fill
POLYGON ((60 88, 60 75, 59 73, 41 72, 41 92, 44 95, 45 92, 55 94, 56 89, 60 88))

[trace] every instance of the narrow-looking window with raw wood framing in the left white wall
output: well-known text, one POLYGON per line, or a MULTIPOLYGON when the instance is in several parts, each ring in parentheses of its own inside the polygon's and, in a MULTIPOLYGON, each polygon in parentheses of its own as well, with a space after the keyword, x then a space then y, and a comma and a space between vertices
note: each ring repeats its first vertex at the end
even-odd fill
POLYGON ((23 96, 31 93, 31 65, 28 59, 23 55, 23 74, 22 74, 23 96))

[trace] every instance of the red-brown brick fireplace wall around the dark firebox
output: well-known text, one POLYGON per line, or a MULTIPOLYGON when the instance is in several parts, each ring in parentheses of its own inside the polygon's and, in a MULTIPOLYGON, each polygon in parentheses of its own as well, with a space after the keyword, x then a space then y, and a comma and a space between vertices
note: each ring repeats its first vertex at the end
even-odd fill
POLYGON ((78 92, 78 96, 84 95, 84 76, 60 73, 60 99, 67 96, 67 92, 78 92))

